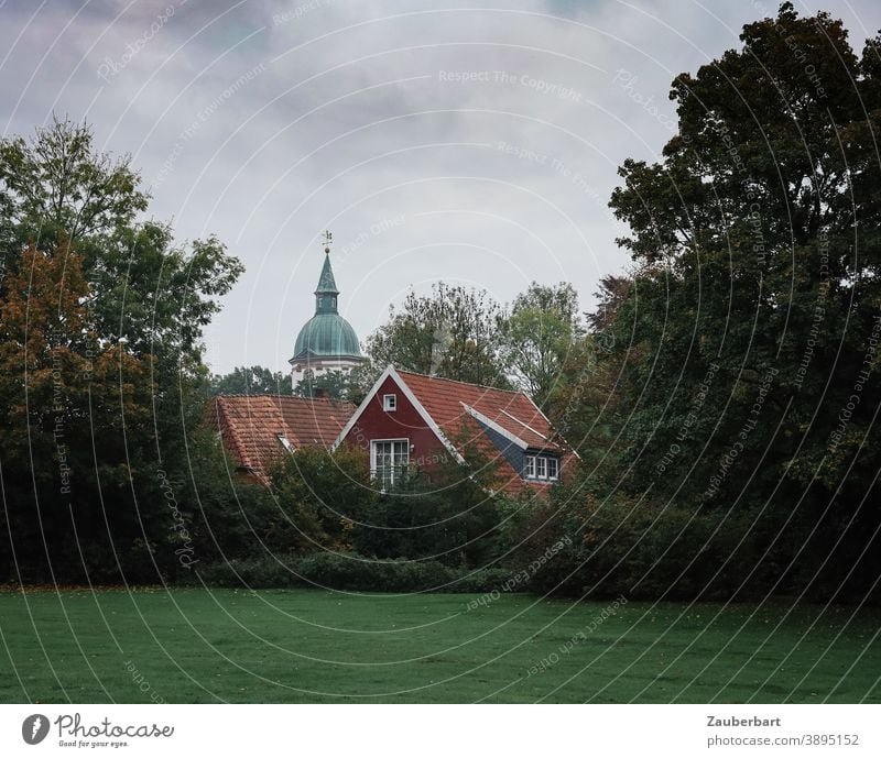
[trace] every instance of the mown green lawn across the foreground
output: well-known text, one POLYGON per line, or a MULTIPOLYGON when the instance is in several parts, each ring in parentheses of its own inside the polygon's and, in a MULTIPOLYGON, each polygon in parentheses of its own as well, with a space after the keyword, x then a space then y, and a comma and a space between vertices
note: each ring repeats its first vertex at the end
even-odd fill
POLYGON ((2 592, 0 701, 881 702, 878 609, 475 600, 2 592))

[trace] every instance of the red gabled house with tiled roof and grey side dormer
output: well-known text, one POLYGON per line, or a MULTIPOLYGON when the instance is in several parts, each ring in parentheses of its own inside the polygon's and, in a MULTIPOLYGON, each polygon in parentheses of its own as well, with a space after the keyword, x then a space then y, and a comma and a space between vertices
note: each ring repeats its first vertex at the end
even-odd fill
POLYGON ((414 468, 465 462, 468 449, 496 464, 497 490, 542 492, 577 454, 522 392, 425 376, 389 366, 339 432, 334 448, 370 452, 372 474, 391 486, 414 468))

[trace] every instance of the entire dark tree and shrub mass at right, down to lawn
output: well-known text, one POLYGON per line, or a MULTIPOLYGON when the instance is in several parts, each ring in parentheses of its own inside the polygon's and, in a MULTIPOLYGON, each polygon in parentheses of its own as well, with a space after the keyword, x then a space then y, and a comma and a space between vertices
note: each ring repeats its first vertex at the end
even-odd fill
POLYGON ((635 267, 576 366, 588 473, 529 541, 574 540, 542 590, 878 597, 878 41, 790 3, 741 40, 673 83, 662 161, 619 172, 635 267))

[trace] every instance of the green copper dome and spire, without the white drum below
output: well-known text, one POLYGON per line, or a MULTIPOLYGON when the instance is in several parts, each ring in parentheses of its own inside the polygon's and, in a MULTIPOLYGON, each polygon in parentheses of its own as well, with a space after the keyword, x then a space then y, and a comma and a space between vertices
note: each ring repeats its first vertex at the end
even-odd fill
POLYGON ((361 358, 358 336, 351 325, 337 311, 337 289, 330 268, 329 249, 324 259, 322 275, 315 289, 315 316, 300 330, 294 344, 294 358, 361 358))

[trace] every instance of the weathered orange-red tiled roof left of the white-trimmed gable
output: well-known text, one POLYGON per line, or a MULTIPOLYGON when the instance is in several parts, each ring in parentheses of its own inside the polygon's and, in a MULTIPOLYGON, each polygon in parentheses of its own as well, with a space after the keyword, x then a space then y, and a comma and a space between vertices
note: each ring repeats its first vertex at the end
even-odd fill
POLYGON ((351 403, 328 398, 221 395, 211 399, 209 424, 237 466, 267 484, 270 463, 284 453, 280 435, 295 449, 329 449, 352 413, 351 403))

